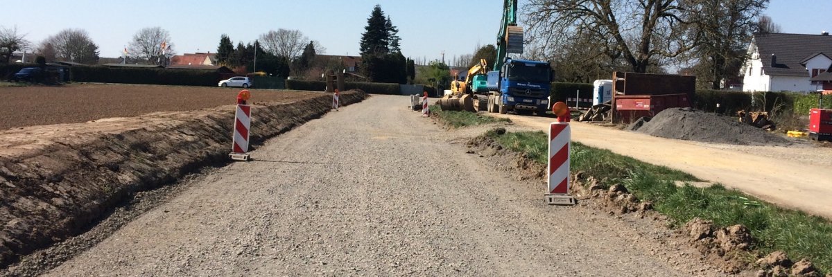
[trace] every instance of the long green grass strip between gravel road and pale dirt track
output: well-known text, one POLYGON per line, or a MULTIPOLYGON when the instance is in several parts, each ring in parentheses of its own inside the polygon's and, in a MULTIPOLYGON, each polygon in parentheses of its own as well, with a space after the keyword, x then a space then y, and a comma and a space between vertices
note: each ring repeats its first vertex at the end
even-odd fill
MULTIPOLYGON (((547 136, 542 131, 488 131, 501 146, 546 163, 547 136)), ((650 200, 676 227, 694 217, 713 220, 721 227, 745 225, 757 240, 762 255, 784 250, 792 260, 807 258, 815 267, 832 272, 832 222, 797 210, 786 210, 729 190, 722 185, 697 188, 676 186, 673 181, 699 181, 665 166, 655 166, 612 151, 572 142, 572 172, 584 171, 607 184, 621 183, 641 200, 650 200)))

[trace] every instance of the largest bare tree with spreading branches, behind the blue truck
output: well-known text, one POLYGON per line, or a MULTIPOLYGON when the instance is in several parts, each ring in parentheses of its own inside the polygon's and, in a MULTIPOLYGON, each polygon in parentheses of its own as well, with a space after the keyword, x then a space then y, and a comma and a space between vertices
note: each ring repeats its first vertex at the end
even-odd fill
POLYGON ((676 0, 529 0, 523 18, 545 52, 557 52, 583 30, 601 42, 587 52, 623 58, 633 72, 647 72, 695 45, 682 9, 676 0))

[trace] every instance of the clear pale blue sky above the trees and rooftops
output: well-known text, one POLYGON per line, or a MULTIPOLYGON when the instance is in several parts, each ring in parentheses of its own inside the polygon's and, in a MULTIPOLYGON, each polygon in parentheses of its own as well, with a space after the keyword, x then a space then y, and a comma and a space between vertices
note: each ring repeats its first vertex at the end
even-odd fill
MULTIPOLYGON (((361 33, 376 3, 399 27, 404 56, 432 60, 444 51, 448 61, 473 52, 477 44, 493 43, 503 6, 500 0, 42 0, 34 6, 0 0, 8 8, 0 26, 17 26, 36 44, 64 28, 82 28, 102 57, 118 57, 136 31, 156 26, 171 32, 177 53, 216 52, 223 33, 236 44, 287 28, 321 42, 327 54, 358 55, 361 33)), ((818 34, 832 32, 830 11, 832 0, 772 0, 765 14, 783 32, 818 34)))

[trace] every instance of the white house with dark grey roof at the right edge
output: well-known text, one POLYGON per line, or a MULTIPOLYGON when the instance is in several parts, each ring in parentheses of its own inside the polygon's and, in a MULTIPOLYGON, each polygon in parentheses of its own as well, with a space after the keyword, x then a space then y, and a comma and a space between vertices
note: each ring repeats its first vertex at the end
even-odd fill
POLYGON ((740 73, 745 92, 812 92, 832 89, 832 82, 810 81, 832 72, 832 36, 794 33, 755 34, 749 60, 740 73))

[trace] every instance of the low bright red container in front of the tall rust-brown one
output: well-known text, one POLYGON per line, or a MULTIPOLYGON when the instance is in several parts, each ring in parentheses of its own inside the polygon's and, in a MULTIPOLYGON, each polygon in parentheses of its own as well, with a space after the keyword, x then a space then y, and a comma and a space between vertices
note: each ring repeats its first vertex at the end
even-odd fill
POLYGON ((617 95, 616 111, 623 122, 635 121, 641 116, 655 116, 673 107, 690 107, 686 94, 666 95, 617 95))

